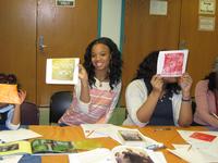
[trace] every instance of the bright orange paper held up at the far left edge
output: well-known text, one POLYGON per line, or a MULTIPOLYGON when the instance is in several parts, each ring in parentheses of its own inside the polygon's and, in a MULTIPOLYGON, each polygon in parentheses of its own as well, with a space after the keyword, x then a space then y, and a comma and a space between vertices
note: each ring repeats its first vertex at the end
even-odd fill
POLYGON ((0 103, 21 104, 17 85, 0 84, 0 103))

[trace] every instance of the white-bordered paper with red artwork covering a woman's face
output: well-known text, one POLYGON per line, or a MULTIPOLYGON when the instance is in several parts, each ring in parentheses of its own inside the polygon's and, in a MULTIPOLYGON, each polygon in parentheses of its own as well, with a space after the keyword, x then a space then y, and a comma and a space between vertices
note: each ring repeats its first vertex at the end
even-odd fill
POLYGON ((157 74, 162 77, 179 77, 185 72, 189 50, 160 51, 157 74))

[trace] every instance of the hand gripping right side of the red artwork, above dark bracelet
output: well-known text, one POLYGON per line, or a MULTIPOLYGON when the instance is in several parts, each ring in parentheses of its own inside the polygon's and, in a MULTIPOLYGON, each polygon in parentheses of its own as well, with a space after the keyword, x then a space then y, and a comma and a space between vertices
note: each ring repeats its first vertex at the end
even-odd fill
POLYGON ((190 96, 190 90, 192 87, 192 77, 187 73, 184 73, 180 77, 179 85, 182 88, 183 96, 190 96))

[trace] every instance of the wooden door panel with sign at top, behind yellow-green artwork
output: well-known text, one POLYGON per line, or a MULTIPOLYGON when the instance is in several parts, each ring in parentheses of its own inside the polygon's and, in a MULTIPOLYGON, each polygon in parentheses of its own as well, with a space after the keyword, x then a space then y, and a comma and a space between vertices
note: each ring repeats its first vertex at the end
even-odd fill
POLYGON ((44 52, 37 49, 37 103, 48 105, 55 91, 73 86, 47 85, 46 59, 83 59, 85 48, 97 36, 97 0, 77 0, 74 8, 56 7, 56 0, 38 1, 37 34, 44 37, 44 52))

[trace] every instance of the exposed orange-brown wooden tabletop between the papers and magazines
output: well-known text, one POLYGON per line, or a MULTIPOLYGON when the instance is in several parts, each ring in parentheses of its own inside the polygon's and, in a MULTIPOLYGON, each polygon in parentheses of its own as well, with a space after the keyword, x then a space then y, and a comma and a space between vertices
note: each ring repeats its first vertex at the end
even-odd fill
MULTIPOLYGON (((175 126, 146 126, 143 128, 137 128, 142 134, 147 137, 155 139, 156 141, 162 142, 167 148, 173 149, 172 143, 185 143, 185 141, 180 137, 177 129, 183 130, 208 130, 203 126, 191 126, 191 127, 175 127, 175 126), (167 128, 167 129, 166 129, 167 128)), ((45 139, 63 140, 63 141, 77 141, 86 139, 83 134, 83 129, 80 126, 29 126, 29 129, 43 135, 45 139)), ((96 138, 102 147, 112 149, 119 146, 117 141, 111 138, 96 138)), ((170 153, 166 149, 160 150, 169 163, 184 163, 182 159, 170 153)), ((43 156, 43 163, 68 163, 66 155, 46 155, 43 156)))

